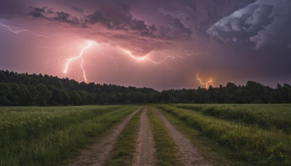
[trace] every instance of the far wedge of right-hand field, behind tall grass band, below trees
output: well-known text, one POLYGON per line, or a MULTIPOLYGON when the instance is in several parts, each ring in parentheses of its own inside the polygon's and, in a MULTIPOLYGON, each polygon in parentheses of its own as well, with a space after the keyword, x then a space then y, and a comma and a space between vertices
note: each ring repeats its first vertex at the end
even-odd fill
POLYGON ((203 115, 228 121, 241 121, 246 124, 259 125, 265 129, 275 128, 291 133, 291 105, 290 104, 260 104, 260 105, 172 105, 201 112, 203 115))

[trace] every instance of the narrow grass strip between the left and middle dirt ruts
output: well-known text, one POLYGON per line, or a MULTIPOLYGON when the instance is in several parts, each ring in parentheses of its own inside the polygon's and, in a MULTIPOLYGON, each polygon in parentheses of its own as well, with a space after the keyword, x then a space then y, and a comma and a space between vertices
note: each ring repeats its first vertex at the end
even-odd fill
POLYGON ((118 140, 115 143, 111 152, 110 159, 105 164, 106 166, 131 165, 133 161, 133 153, 135 150, 140 117, 143 109, 141 109, 132 117, 132 119, 118 136, 118 140))

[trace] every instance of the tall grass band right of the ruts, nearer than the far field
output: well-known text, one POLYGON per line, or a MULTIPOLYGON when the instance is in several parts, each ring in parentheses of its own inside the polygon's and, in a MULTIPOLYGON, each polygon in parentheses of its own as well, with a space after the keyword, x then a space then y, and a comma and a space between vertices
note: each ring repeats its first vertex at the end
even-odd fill
MULTIPOLYGON (((281 130, 265 129, 259 125, 245 124, 241 121, 226 121, 205 116, 199 111, 169 105, 158 107, 183 121, 188 128, 200 131, 202 136, 230 150, 232 152, 230 157, 235 161, 246 162, 248 156, 273 158, 283 155, 286 162, 272 164, 290 165, 291 136, 281 130)), ((259 163, 259 165, 264 164, 266 163, 259 163)))

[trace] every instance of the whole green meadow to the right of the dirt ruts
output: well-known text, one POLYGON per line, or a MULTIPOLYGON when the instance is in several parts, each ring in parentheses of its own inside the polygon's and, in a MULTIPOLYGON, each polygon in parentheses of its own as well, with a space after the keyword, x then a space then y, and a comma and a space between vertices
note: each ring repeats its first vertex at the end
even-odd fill
POLYGON ((227 155, 234 161, 243 163, 248 157, 265 160, 279 157, 285 162, 273 162, 273 165, 290 165, 291 105, 172 104, 157 107, 229 150, 227 155))

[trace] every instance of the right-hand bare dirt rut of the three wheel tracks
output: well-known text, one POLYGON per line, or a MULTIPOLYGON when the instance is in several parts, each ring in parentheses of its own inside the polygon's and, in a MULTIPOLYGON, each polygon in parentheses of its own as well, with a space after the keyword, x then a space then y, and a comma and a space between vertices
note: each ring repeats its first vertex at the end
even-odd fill
POLYGON ((162 120, 178 145, 179 159, 185 166, 211 166, 194 148, 191 141, 183 136, 157 109, 153 109, 162 120))

